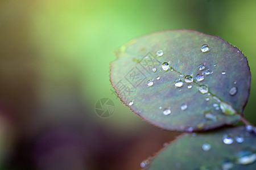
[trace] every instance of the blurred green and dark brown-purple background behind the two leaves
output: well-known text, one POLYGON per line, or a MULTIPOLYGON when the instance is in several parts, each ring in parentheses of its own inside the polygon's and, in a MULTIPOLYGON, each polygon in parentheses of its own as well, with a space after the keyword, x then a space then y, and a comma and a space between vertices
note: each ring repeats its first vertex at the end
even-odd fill
MULTIPOLYGON (((169 133, 113 94, 113 51, 164 29, 221 36, 247 56, 255 125, 256 1, 0 1, 1 169, 139 169, 169 133), (115 103, 110 118, 96 102, 115 103)), ((239 71, 239 70, 238 70, 239 71)))

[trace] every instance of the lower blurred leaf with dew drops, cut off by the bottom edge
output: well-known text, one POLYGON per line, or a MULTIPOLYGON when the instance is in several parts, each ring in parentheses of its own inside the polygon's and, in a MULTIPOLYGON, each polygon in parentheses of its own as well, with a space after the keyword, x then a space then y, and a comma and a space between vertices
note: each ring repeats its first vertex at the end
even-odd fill
POLYGON ((181 135, 148 169, 256 169, 256 135, 244 127, 181 135), (225 143, 226 144, 225 144, 225 143))

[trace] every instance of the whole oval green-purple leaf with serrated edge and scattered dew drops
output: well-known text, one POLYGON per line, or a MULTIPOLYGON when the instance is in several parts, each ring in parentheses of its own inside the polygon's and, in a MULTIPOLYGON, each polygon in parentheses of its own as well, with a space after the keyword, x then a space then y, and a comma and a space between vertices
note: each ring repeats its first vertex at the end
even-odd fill
POLYGON ((243 53, 220 37, 185 29, 155 32, 128 42, 116 54, 112 85, 123 103, 151 124, 197 131, 240 120, 249 97, 250 70, 243 53), (204 44, 207 52, 201 50, 204 44), (157 56, 159 50, 163 56, 157 56), (164 62, 170 64, 167 71, 164 62), (184 81, 186 75, 192 76, 192 83, 184 81), (179 79, 183 84, 176 87, 179 79))

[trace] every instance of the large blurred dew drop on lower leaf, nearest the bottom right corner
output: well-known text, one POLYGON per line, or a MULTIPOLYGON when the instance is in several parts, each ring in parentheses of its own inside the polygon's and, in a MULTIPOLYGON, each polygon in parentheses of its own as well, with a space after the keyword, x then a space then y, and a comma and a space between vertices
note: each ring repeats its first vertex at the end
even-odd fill
POLYGON ((256 154, 250 150, 242 150, 237 153, 237 164, 247 165, 254 163, 256 160, 256 154))

